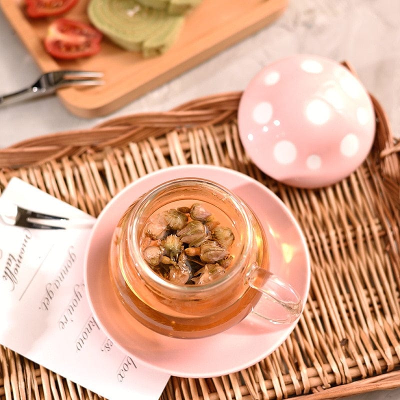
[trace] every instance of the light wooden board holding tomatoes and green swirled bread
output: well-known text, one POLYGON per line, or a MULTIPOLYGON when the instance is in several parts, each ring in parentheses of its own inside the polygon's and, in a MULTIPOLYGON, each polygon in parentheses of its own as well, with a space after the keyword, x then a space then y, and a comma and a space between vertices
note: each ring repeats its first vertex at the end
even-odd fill
MULTIPOLYGON (((256 32, 278 17, 287 1, 203 0, 187 15, 177 41, 160 56, 143 58, 139 53, 122 50, 104 38, 98 54, 74 61, 55 60, 45 52, 42 40, 49 19, 27 18, 23 0, 0 0, 0 6, 43 72, 55 69, 104 72, 105 84, 102 86, 68 87, 57 91, 70 112, 90 118, 118 109, 256 32)), ((88 22, 86 4, 87 0, 80 0, 64 16, 88 22)))

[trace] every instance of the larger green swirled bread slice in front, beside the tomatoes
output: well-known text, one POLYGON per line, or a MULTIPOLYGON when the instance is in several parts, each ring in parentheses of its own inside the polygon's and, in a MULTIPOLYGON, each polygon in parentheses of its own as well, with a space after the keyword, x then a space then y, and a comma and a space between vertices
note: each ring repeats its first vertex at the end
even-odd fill
POLYGON ((136 0, 90 0, 90 22, 111 41, 150 57, 163 53, 176 40, 182 15, 145 7, 136 0))

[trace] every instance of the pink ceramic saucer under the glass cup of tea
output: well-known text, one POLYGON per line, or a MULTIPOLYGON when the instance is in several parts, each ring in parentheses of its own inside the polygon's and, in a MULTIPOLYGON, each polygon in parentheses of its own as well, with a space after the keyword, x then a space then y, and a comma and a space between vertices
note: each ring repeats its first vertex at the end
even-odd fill
POLYGON ((122 351, 147 366, 175 376, 211 377, 246 368, 278 347, 297 321, 265 329, 253 314, 234 327, 200 339, 177 339, 142 326, 119 303, 108 277, 108 246, 124 210, 141 194, 177 177, 214 180, 241 197, 259 217, 270 248, 271 271, 290 283, 306 301, 309 255, 303 234, 285 205, 256 180, 231 169, 184 165, 150 173, 119 192, 98 216, 84 260, 88 301, 99 326, 122 351))

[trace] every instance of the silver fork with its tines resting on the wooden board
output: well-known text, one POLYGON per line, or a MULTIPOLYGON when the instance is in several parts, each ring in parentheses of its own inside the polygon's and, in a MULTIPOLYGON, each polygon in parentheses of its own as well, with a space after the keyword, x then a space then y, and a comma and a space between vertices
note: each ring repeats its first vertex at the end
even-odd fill
POLYGON ((0 96, 0 107, 17 101, 26 100, 32 97, 40 97, 45 94, 52 94, 60 87, 79 85, 94 86, 104 84, 99 80, 103 76, 102 72, 60 70, 43 73, 29 87, 18 90, 14 93, 0 96))

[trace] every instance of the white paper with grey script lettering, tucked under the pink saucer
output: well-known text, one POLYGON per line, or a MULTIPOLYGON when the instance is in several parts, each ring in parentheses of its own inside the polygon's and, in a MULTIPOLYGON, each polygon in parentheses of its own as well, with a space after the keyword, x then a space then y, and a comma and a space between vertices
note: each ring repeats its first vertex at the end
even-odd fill
MULTIPOLYGON (((0 214, 10 203, 94 220, 18 178, 0 196, 0 214)), ((91 314, 83 283, 89 234, 0 219, 0 343, 110 400, 158 399, 169 376, 121 352, 91 314)))

